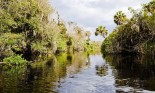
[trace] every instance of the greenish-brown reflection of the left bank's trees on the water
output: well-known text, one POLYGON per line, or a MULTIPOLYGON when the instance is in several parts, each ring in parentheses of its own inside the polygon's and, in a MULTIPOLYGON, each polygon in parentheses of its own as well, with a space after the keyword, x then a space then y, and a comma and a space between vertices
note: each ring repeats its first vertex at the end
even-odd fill
POLYGON ((0 93, 57 93, 66 77, 84 68, 84 53, 60 54, 24 67, 0 68, 0 93))

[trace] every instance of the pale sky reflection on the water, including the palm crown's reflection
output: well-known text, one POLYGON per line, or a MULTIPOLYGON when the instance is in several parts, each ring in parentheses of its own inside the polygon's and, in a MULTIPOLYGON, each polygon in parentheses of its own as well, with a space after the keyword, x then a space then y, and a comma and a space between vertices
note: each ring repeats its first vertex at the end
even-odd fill
MULTIPOLYGON (((115 93, 112 70, 101 54, 87 55, 86 61, 81 64, 83 65, 79 67, 78 73, 69 74, 71 76, 61 83, 61 87, 57 89, 59 93, 115 93)), ((72 66, 74 67, 74 64, 72 66)))

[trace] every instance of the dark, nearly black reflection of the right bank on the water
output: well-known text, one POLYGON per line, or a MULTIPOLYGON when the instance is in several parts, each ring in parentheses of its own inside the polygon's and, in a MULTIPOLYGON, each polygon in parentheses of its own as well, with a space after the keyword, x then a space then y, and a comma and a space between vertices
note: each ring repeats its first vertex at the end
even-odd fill
POLYGON ((115 71, 119 91, 155 91, 155 60, 152 56, 109 55, 104 58, 115 71))

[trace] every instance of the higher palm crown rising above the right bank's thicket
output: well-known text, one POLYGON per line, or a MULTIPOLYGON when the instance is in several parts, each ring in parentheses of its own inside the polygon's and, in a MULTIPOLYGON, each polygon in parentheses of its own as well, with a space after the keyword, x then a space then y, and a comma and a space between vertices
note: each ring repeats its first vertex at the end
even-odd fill
POLYGON ((115 16, 114 16, 114 22, 117 25, 122 25, 124 23, 126 23, 127 18, 126 15, 122 12, 122 11, 118 11, 115 16))

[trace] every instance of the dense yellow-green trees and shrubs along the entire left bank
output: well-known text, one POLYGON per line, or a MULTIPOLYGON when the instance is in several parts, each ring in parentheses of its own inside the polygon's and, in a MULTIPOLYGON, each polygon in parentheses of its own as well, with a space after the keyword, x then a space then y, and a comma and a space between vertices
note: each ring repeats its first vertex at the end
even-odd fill
POLYGON ((1 63, 20 65, 47 54, 90 52, 100 46, 90 35, 76 23, 64 22, 48 0, 0 0, 1 63))

